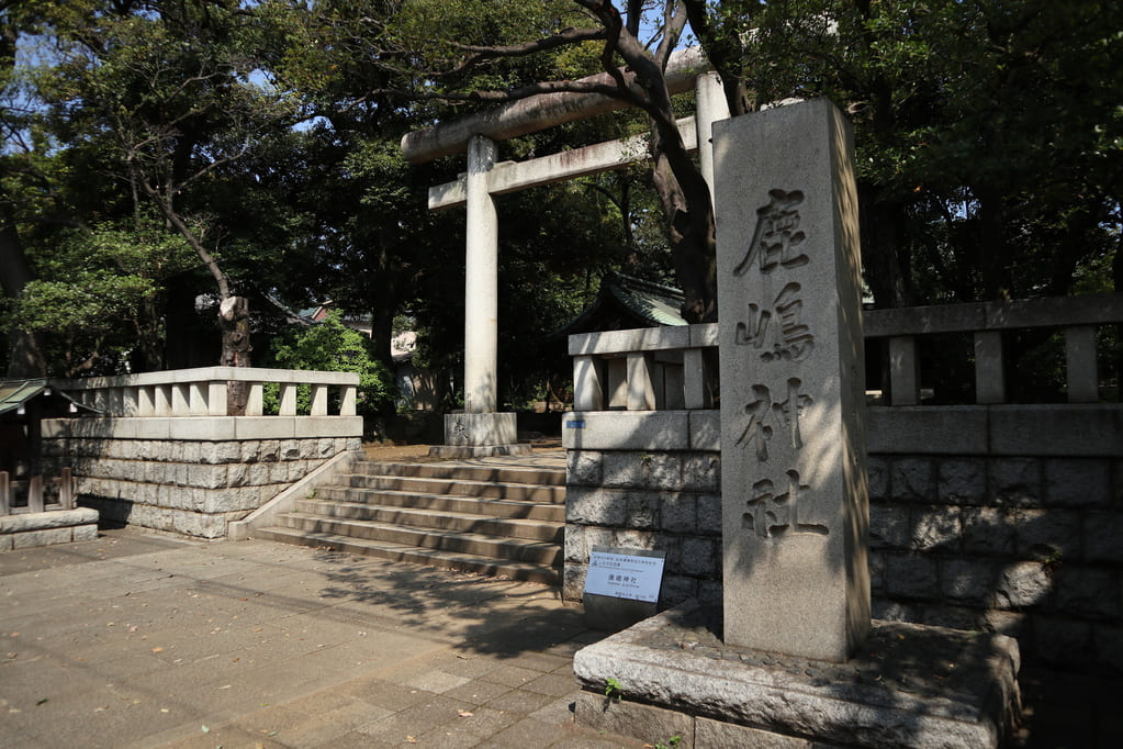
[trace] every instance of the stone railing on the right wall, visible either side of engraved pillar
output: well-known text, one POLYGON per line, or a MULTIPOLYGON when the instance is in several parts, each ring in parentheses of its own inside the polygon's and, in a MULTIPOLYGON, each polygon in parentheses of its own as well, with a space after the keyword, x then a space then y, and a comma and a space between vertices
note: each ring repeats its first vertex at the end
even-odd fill
MULTIPOLYGON (((1123 294, 867 310, 867 339, 887 339, 891 402, 920 403, 917 340, 933 334, 974 336, 975 392, 980 405, 1006 402, 1002 335, 1056 328, 1065 334, 1069 403, 1096 403, 1098 326, 1123 322, 1123 294)), ((574 411, 710 409, 718 326, 613 330, 569 337, 574 411)))

